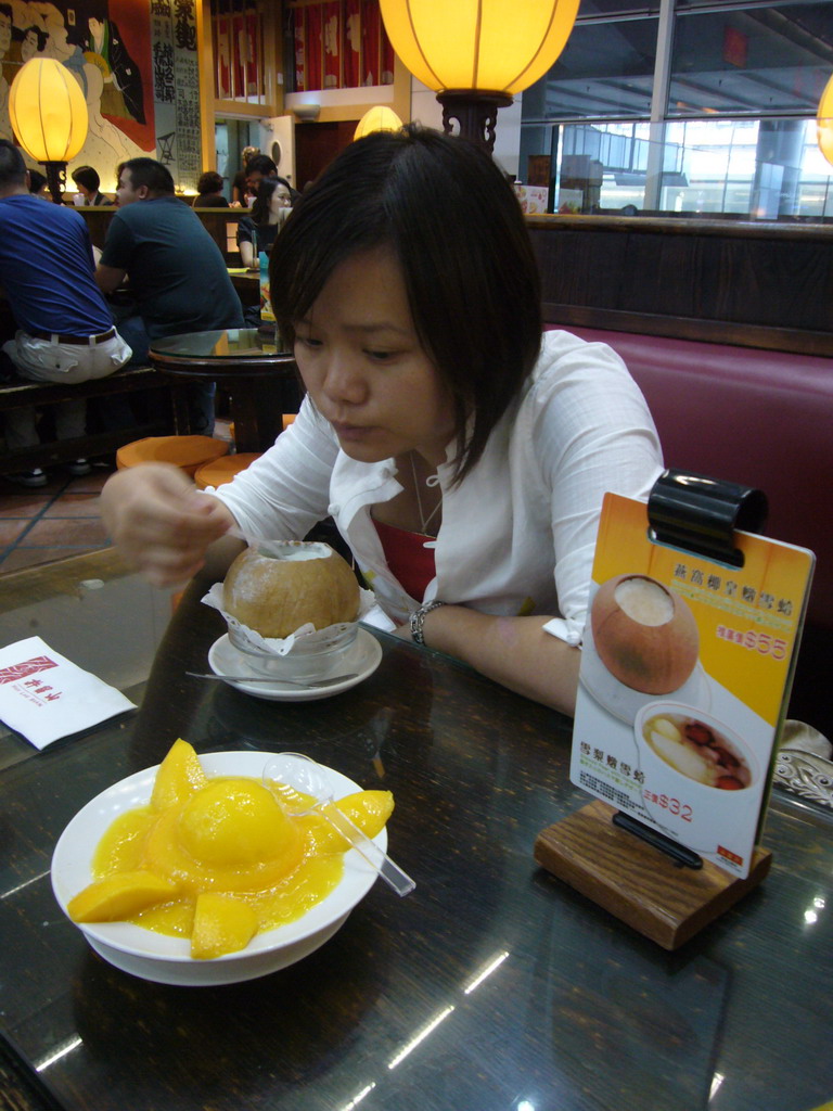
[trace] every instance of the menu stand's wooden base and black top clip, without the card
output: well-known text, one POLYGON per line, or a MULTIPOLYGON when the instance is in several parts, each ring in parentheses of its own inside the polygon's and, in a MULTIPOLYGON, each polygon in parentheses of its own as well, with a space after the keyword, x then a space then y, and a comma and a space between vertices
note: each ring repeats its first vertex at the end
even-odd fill
MULTIPOLYGON (((651 491, 648 516, 655 542, 740 567, 734 530, 760 532, 766 508, 760 490, 668 470, 651 491)), ((534 859, 644 937, 674 950, 756 887, 770 871, 772 853, 755 847, 749 875, 739 879, 594 799, 542 830, 534 859)))

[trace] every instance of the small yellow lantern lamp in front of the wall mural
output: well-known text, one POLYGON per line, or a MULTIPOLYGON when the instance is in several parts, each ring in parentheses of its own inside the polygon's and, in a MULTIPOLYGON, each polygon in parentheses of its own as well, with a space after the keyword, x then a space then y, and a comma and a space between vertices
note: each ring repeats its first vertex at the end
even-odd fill
POLYGON ((20 146, 46 166, 49 191, 60 204, 67 162, 87 139, 89 118, 81 86, 54 58, 32 58, 11 82, 9 116, 20 146))

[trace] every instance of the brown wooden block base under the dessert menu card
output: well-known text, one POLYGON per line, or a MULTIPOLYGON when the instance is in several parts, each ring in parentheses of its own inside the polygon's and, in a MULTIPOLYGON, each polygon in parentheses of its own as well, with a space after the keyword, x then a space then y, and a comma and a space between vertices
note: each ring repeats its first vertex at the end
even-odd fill
POLYGON ((663 949, 683 942, 714 921, 764 879, 769 849, 755 849, 745 880, 703 861, 696 871, 613 824, 615 810, 595 799, 542 830, 535 860, 548 872, 655 941, 663 949))

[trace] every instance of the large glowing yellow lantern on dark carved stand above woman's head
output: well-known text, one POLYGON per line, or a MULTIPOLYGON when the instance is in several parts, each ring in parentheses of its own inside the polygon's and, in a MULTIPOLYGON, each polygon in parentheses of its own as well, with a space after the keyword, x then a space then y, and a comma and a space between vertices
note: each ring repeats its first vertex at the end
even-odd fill
POLYGON ((492 150, 498 109, 550 69, 579 0, 380 0, 391 46, 433 89, 442 122, 492 150))

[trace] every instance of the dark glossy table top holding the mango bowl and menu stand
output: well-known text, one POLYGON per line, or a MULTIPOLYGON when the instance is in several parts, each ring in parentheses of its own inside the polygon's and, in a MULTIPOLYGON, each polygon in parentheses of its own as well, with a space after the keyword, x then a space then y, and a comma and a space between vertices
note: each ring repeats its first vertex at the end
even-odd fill
POLYGON ((38 633, 139 703, 40 753, 0 739, 12 1105, 813 1111, 830 1099, 830 812, 774 793, 770 875, 665 952, 534 863, 539 832, 586 802, 569 780, 568 719, 375 632, 378 671, 332 699, 277 703, 191 679, 224 631, 194 585, 168 624, 170 595, 110 552, 0 577, 7 643, 38 633), (391 790, 391 852, 416 890, 400 900, 375 884, 320 950, 248 983, 172 988, 107 964, 56 907, 51 852, 81 805, 177 737, 200 753, 300 750, 391 790))

